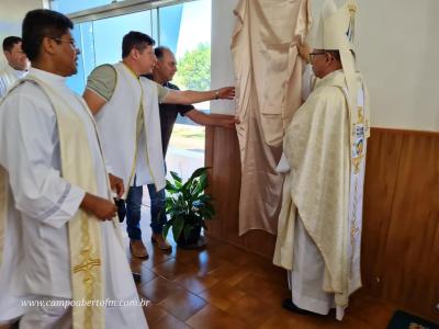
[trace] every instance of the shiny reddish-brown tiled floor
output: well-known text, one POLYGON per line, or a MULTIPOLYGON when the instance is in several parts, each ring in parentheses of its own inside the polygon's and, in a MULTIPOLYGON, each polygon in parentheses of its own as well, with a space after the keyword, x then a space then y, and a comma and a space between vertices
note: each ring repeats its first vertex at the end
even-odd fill
MULTIPOLYGON (((300 316, 284 310, 290 295, 286 274, 270 261, 232 245, 210 239, 205 249, 171 252, 155 249, 149 240, 145 207, 142 229, 149 258, 131 259, 140 273, 137 287, 149 328, 386 328, 393 308, 357 294, 342 322, 335 315, 300 316)), ((127 250, 127 254, 130 251, 127 250)))

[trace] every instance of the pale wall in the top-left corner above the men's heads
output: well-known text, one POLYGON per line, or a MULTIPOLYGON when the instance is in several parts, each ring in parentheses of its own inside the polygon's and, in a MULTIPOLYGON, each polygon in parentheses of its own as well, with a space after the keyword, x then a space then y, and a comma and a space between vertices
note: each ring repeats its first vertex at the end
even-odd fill
MULTIPOLYGON (((21 36, 21 23, 26 12, 43 8, 44 3, 44 0, 0 0, 0 44, 9 35, 21 36)), ((0 52, 0 66, 4 64, 3 52, 0 52)))

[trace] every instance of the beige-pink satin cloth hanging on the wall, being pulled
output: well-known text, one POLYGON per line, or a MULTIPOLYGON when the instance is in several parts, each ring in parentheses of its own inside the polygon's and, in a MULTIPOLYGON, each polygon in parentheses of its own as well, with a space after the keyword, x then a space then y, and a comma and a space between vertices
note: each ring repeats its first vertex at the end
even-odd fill
POLYGON ((232 39, 241 160, 239 235, 277 232, 282 139, 302 103, 299 56, 311 27, 309 0, 240 0, 232 39))

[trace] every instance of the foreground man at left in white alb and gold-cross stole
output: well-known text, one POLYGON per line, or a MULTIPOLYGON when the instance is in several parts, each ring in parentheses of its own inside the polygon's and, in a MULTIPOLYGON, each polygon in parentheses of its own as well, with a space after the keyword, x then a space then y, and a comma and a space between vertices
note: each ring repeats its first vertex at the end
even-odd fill
POLYGON ((79 53, 72 27, 50 10, 25 15, 32 67, 0 105, 0 321, 147 328, 112 219, 110 186, 122 195, 123 183, 109 179, 93 117, 66 86, 79 53))

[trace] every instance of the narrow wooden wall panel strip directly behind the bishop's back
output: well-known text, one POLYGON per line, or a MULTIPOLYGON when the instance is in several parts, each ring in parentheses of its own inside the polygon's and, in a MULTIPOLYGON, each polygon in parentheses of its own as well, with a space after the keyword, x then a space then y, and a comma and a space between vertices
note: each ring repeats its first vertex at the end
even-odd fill
POLYGON ((372 129, 368 141, 364 178, 362 279, 368 291, 379 297, 387 242, 390 215, 395 194, 403 137, 372 129))

